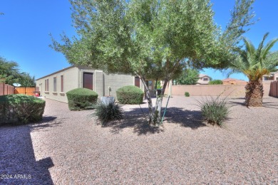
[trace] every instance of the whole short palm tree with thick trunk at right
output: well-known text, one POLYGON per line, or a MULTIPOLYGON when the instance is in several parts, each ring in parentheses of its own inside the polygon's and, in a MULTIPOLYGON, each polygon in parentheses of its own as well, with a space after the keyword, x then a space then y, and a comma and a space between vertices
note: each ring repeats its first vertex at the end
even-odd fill
POLYGON ((262 96, 264 95, 261 83, 262 76, 268 75, 273 70, 277 70, 278 51, 271 52, 270 49, 278 41, 278 38, 272 39, 272 41, 269 41, 264 46, 264 41, 268 35, 269 33, 264 34, 257 49, 254 48, 251 41, 244 38, 245 49, 239 52, 239 57, 230 66, 232 73, 244 73, 249 79, 245 87, 245 104, 247 107, 262 106, 262 96))

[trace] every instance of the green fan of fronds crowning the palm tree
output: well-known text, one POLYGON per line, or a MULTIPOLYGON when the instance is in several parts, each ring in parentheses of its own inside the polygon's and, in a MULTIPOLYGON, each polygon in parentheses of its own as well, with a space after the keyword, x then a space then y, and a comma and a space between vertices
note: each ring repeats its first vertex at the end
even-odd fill
POLYGON ((245 49, 239 51, 240 56, 230 64, 231 73, 244 73, 249 81, 258 82, 263 75, 276 70, 278 65, 278 51, 271 52, 270 49, 277 43, 278 38, 274 38, 264 46, 264 41, 269 33, 264 37, 256 49, 251 41, 244 38, 245 49))

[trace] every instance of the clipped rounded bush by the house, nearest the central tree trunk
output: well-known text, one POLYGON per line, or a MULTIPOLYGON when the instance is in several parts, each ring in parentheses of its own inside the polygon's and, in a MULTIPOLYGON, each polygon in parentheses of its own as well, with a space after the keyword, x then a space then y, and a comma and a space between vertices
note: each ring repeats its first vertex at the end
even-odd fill
POLYGON ((140 104, 143 102, 143 90, 134 85, 119 88, 116 93, 117 99, 121 104, 140 104))

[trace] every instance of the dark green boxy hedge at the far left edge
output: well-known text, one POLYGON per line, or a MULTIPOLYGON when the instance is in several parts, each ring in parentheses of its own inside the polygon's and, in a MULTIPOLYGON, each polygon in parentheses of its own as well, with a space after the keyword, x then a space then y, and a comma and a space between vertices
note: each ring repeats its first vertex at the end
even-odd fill
POLYGON ((46 102, 29 95, 0 96, 0 125, 22 125, 39 122, 46 102))

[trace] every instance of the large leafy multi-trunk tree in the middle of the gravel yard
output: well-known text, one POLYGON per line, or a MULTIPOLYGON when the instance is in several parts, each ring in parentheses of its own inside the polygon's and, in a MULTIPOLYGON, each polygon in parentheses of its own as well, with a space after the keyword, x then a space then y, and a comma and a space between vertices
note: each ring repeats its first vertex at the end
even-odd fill
POLYGON ((71 64, 88 65, 108 73, 137 75, 148 99, 151 125, 161 121, 163 95, 156 105, 146 79, 166 85, 187 66, 225 68, 235 59, 254 0, 237 0, 224 32, 215 23, 209 0, 70 0, 78 38, 53 38, 52 48, 71 64))

